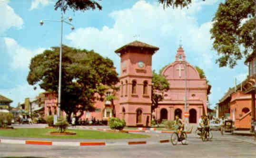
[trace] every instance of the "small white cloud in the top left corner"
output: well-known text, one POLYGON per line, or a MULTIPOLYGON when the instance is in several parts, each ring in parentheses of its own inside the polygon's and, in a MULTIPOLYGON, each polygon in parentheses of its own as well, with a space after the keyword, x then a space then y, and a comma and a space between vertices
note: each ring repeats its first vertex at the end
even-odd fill
POLYGON ((11 27, 21 28, 23 25, 23 19, 17 15, 14 10, 8 5, 9 0, 0 1, 0 34, 4 33, 7 29, 11 27))

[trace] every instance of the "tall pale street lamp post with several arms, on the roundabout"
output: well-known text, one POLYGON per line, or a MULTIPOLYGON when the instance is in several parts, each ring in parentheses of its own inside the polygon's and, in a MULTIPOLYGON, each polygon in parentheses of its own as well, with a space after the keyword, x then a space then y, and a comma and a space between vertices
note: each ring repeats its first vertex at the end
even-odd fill
POLYGON ((63 13, 61 11, 61 17, 60 20, 40 20, 39 24, 42 26, 44 24, 44 21, 51 21, 51 22, 60 22, 61 28, 60 28, 60 46, 59 46, 59 90, 58 90, 58 111, 57 111, 57 118, 59 118, 60 113, 60 103, 61 103, 61 62, 62 62, 62 34, 63 34, 63 22, 66 24, 69 24, 71 26, 71 30, 74 30, 74 26, 66 21, 66 19, 69 19, 69 22, 71 22, 73 19, 71 17, 64 18, 63 13))

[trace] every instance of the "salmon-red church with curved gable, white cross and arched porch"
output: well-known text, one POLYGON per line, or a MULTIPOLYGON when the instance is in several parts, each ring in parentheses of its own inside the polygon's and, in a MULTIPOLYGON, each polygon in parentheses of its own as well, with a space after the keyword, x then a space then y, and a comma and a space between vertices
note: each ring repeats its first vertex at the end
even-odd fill
POLYGON ((187 62, 181 46, 177 50, 175 61, 167 65, 162 74, 166 76, 170 89, 155 110, 156 118, 174 120, 178 115, 183 119, 187 95, 189 123, 197 123, 200 116, 207 113, 207 92, 210 87, 205 78, 200 78, 197 69, 187 62))

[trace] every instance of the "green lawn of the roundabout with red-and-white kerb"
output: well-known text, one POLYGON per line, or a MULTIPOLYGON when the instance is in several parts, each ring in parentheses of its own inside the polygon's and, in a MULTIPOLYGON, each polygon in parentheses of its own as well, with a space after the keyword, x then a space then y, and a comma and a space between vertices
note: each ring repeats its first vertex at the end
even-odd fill
POLYGON ((0 130, 0 136, 3 137, 24 137, 24 138, 49 138, 49 139, 134 139, 148 138, 148 135, 133 133, 111 133, 97 130, 68 130, 76 132, 76 135, 53 136, 49 135, 53 129, 14 129, 0 130))

